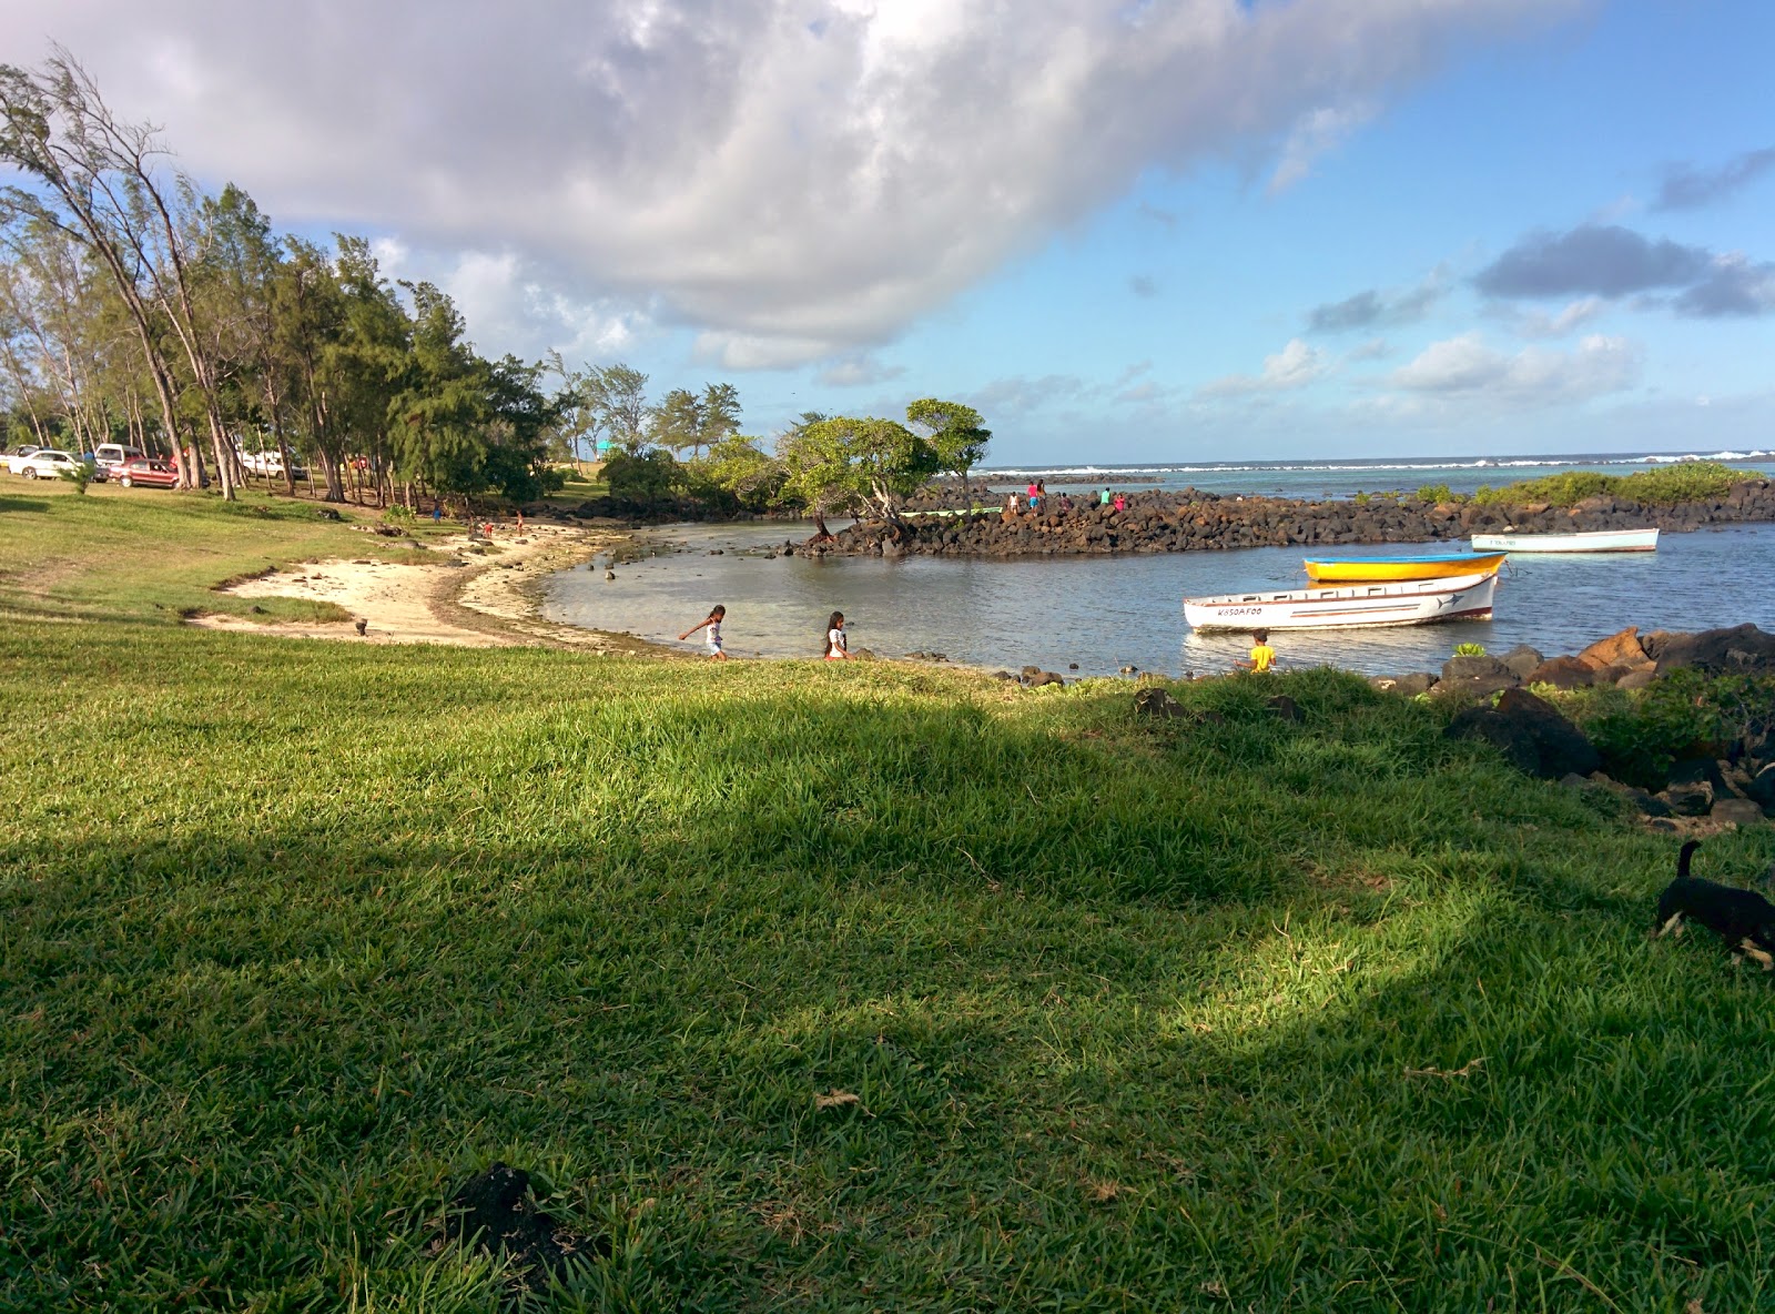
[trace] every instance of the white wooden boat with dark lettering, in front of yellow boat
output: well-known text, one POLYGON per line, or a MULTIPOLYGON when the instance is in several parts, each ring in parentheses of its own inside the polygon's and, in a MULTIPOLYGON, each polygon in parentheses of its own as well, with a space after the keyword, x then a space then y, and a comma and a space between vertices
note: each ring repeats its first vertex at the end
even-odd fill
POLYGON ((1184 620, 1198 630, 1301 630, 1491 620, 1491 595, 1496 588, 1498 572, 1491 570, 1400 584, 1225 593, 1212 598, 1184 598, 1184 620))

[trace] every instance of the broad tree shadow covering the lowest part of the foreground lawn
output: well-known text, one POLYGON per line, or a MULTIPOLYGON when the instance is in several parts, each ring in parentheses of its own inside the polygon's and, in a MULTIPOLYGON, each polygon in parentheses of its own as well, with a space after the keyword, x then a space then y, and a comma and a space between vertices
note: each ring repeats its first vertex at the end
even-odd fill
POLYGON ((671 1229, 630 1277, 690 1303, 1768 1296, 1766 982, 1647 946, 1635 909, 1088 922, 896 879, 383 877, 256 927, 195 891, 112 909, 108 941, 12 920, 21 1280, 87 1280, 55 1238, 99 1227, 117 1280, 160 1247, 169 1282, 234 1291, 362 1252, 394 1291, 426 1202, 506 1158, 580 1222, 671 1229))

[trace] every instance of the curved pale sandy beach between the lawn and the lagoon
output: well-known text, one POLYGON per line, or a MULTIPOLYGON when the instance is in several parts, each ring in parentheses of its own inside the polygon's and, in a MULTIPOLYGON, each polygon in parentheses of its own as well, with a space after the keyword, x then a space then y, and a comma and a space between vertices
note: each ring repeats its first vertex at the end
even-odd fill
POLYGON ((666 650, 627 634, 605 634, 543 620, 538 582, 589 561, 627 534, 532 524, 522 534, 488 540, 467 534, 431 545, 437 565, 371 558, 316 561, 238 581, 220 591, 241 598, 293 597, 332 602, 351 613, 337 621, 256 623, 236 614, 199 614, 192 625, 245 634, 350 643, 447 643, 465 648, 547 646, 611 653, 666 650), (357 621, 364 632, 357 632, 357 621))

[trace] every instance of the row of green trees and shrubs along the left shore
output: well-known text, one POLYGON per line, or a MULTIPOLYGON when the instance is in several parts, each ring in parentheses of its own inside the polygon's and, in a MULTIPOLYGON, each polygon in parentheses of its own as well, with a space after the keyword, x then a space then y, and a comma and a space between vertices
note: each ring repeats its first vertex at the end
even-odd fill
POLYGON ((809 416, 777 442, 740 431, 733 384, 648 396, 627 364, 486 359, 449 295, 390 282, 371 241, 279 236, 236 185, 165 167, 64 50, 0 66, 4 446, 165 455, 224 499, 263 474, 296 495, 415 508, 534 503, 563 463, 616 456, 619 504, 893 515, 930 474, 964 481, 990 437, 953 401, 907 423, 809 416))

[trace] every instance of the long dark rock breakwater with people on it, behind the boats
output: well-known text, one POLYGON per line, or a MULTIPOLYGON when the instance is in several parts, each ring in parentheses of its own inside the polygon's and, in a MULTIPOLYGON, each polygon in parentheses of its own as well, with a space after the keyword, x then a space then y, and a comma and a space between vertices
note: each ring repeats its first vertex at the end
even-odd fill
POLYGON ((1349 547, 1356 543, 1432 543, 1479 533, 1582 533, 1649 529, 1686 533, 1711 524, 1775 522, 1775 481, 1745 479, 1724 497, 1674 506, 1612 495, 1574 506, 1546 503, 1422 503, 1415 497, 1367 501, 1292 501, 1227 497, 1195 488, 1138 492, 1122 511, 1077 504, 1038 513, 966 513, 958 495, 914 499, 889 524, 859 520, 809 552, 870 556, 1083 556, 1093 552, 1198 552, 1235 547, 1349 547))

